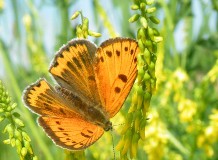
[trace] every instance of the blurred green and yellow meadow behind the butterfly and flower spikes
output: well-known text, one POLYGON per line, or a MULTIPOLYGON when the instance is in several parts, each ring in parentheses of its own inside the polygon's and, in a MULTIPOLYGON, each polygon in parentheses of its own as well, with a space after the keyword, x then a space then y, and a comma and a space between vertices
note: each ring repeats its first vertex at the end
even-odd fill
MULTIPOLYGON (((80 19, 70 20, 75 11, 81 10, 89 19, 91 30, 102 33, 100 38, 89 38, 99 45, 115 36, 135 38, 140 24, 128 22, 135 12, 131 4, 120 0, 0 0, 0 80, 18 104, 16 111, 38 159, 64 159, 66 155, 38 127, 37 116, 24 107, 22 91, 39 77, 51 81, 48 67, 55 52, 76 37, 80 19)), ((218 2, 157 0, 156 8, 163 42, 158 45, 157 89, 148 113, 146 140, 139 142, 137 159, 216 160, 218 2)), ((126 111, 124 106, 114 121, 122 122, 126 111)), ((0 123, 0 131, 7 123, 0 123)), ((113 132, 115 145, 119 128, 113 132)), ((19 159, 15 148, 2 143, 7 138, 0 133, 0 160, 19 159)), ((85 153, 87 159, 113 159, 110 133, 85 153)))

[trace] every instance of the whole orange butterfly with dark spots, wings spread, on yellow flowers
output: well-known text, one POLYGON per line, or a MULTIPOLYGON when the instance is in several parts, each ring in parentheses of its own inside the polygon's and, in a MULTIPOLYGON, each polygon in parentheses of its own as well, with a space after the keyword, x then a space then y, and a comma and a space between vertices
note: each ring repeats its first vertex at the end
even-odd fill
POLYGON ((56 145, 82 150, 112 129, 110 118, 121 109, 137 76, 138 43, 114 38, 99 47, 73 39, 61 47, 49 72, 23 93, 25 105, 56 145))

